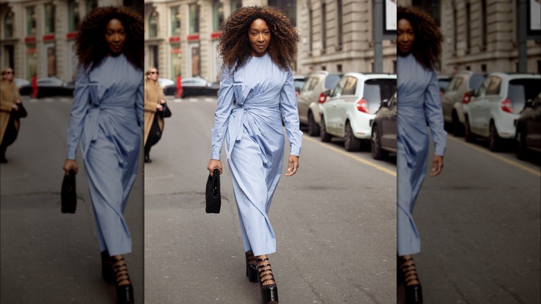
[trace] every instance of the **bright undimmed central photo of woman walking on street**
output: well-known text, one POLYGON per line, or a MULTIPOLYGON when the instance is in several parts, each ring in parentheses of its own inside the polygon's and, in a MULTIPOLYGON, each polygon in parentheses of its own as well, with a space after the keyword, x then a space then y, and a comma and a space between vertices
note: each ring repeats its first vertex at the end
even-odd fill
POLYGON ((396 302, 395 15, 145 2, 145 301, 396 302))

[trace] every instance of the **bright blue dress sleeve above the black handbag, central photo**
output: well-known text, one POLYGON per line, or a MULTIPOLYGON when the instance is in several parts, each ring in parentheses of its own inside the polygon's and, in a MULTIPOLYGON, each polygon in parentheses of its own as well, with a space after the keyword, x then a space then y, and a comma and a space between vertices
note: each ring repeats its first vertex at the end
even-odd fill
POLYGON ((214 112, 214 128, 212 128, 212 160, 220 160, 223 138, 229 124, 233 105, 233 75, 230 69, 225 68, 220 77, 220 90, 218 90, 218 106, 214 112))

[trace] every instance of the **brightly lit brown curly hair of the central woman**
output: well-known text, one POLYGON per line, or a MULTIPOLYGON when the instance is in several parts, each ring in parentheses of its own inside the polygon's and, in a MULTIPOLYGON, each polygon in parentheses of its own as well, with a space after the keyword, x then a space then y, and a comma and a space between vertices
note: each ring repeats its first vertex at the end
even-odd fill
POLYGON ((245 6, 225 20, 218 44, 223 67, 232 69, 236 65, 236 71, 250 60, 252 48, 248 30, 255 19, 264 20, 271 31, 272 39, 267 51, 273 62, 281 69, 290 69, 291 62, 297 58, 299 34, 289 18, 272 6, 245 6))

